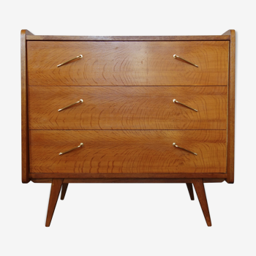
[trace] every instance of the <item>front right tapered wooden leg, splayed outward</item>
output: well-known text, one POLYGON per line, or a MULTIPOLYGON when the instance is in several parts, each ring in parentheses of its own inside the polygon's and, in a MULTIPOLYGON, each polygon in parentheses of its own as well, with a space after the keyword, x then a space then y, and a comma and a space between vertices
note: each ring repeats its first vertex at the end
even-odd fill
POLYGON ((206 199, 206 190, 205 187, 203 186, 203 179, 202 178, 193 178, 192 179, 195 191, 197 192, 197 197, 200 202, 200 206, 203 211, 203 215, 206 219, 206 223, 208 227, 211 227, 211 217, 210 217, 210 212, 208 209, 208 203, 206 199))

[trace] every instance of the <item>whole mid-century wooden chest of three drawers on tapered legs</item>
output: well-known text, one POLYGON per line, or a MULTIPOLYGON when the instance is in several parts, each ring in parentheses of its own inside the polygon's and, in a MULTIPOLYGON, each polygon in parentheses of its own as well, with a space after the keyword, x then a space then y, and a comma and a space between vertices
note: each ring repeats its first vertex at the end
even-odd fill
MULTIPOLYGON (((22 182, 234 181, 235 31, 61 37, 21 31, 22 182)), ((62 188, 62 189, 61 189, 62 188)))

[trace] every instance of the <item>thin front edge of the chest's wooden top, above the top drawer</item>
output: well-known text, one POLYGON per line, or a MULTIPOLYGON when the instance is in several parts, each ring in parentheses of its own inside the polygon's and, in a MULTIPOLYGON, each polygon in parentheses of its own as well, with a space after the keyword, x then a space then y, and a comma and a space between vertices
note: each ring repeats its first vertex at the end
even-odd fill
POLYGON ((26 36, 36 41, 226 41, 230 36, 26 36))

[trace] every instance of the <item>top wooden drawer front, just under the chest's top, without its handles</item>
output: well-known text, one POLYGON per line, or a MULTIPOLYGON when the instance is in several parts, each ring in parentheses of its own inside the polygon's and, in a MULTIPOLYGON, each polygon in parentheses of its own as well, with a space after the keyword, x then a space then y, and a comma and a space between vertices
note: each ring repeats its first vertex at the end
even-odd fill
POLYGON ((28 84, 227 86, 228 48, 228 41, 28 41, 28 84), (57 67, 79 55, 83 58, 57 67))

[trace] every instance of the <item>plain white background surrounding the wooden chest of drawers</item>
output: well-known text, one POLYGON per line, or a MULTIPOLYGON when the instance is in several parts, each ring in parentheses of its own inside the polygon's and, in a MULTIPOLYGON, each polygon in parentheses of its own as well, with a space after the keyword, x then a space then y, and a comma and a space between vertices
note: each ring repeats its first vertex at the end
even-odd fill
POLYGON ((255 255, 253 1, 1 1, 1 255, 255 255), (238 4, 239 3, 239 4, 238 4), (219 35, 236 29, 235 184, 206 184, 212 227, 185 184, 21 183, 20 30, 37 35, 219 35))

